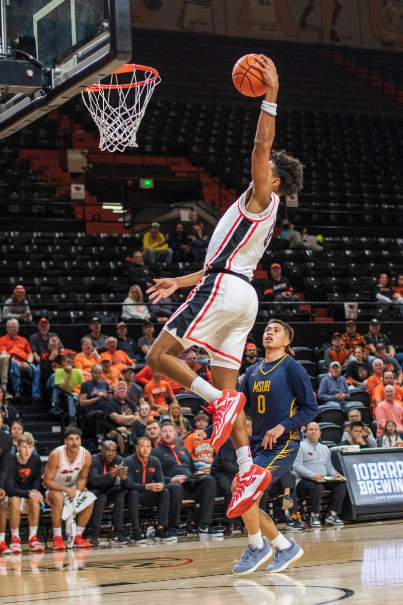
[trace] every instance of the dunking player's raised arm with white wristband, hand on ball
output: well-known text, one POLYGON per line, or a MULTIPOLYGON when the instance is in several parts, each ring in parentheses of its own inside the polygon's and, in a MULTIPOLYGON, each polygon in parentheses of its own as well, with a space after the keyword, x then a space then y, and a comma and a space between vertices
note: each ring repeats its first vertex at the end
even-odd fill
POLYGON ((253 194, 248 202, 248 212, 252 214, 263 212, 270 203, 274 177, 269 160, 276 131, 274 122, 279 90, 279 77, 272 60, 260 54, 256 55, 256 62, 254 67, 262 73, 267 92, 262 103, 252 152, 253 194))

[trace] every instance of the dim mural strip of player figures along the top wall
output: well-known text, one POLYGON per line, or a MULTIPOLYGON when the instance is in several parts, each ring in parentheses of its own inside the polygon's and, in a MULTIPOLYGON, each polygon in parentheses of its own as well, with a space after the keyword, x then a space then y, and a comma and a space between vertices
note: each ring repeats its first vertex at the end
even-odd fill
POLYGON ((403 50, 403 0, 131 0, 133 27, 403 50))

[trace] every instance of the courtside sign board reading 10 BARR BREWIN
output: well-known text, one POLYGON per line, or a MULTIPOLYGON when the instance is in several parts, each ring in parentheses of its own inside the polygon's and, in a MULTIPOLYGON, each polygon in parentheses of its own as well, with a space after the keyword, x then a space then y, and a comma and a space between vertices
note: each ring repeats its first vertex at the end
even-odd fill
POLYGON ((332 461, 348 479, 344 519, 403 516, 403 448, 333 451, 332 461))

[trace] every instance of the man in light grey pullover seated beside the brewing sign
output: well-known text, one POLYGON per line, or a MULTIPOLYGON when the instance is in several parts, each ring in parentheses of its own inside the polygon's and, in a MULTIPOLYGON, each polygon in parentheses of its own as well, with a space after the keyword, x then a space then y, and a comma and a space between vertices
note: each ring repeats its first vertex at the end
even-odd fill
POLYGON ((340 519, 339 514, 347 492, 346 483, 344 483, 347 479, 332 465, 329 448, 319 442, 320 434, 317 422, 309 422, 306 427, 306 439, 301 441, 293 467, 297 478, 297 494, 298 496, 309 494, 311 500, 309 525, 312 528, 320 529, 319 511, 323 491, 326 489, 333 492, 332 503, 326 514, 326 523, 342 527, 344 522, 340 519), (329 476, 341 479, 341 481, 325 482, 325 477, 329 476))

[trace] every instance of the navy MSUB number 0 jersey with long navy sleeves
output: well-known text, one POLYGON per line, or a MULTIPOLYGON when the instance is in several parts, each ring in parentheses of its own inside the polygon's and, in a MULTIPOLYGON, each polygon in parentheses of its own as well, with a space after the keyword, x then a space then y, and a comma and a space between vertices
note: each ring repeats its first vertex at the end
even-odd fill
POLYGON ((300 427, 318 413, 318 405, 305 368, 287 353, 271 362, 247 369, 240 391, 247 398, 245 413, 252 418, 251 450, 262 444, 271 428, 285 428, 277 440, 299 440, 300 427))

